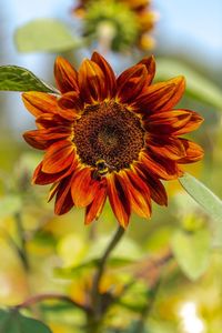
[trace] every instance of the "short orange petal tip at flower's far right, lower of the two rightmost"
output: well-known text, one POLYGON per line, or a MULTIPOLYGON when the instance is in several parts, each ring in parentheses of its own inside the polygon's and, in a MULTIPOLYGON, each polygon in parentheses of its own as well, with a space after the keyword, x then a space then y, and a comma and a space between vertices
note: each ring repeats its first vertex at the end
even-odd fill
POLYGON ((178 163, 193 163, 202 160, 204 155, 203 149, 198 144, 186 139, 180 139, 185 150, 185 157, 180 159, 178 163))

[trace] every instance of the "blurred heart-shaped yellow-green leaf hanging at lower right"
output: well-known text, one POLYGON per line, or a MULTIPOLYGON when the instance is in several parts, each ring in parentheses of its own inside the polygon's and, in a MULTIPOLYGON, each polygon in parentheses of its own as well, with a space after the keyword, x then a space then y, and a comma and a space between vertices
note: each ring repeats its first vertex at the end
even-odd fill
POLYGON ((195 232, 176 231, 171 239, 175 260, 191 280, 199 279, 208 269, 210 259, 210 233, 206 229, 195 232))

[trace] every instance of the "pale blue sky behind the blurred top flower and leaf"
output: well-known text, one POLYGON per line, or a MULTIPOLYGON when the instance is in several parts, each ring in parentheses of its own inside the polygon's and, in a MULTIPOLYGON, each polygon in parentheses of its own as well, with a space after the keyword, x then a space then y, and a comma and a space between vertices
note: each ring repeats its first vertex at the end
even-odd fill
MULTIPOLYGON (((54 54, 18 53, 13 33, 17 27, 36 18, 58 18, 73 26, 70 16, 73 3, 72 0, 0 0, 0 64, 26 67, 43 79, 52 73, 54 54)), ((179 51, 208 68, 222 70, 222 0, 153 0, 153 8, 160 13, 155 37, 164 54, 179 51)), ((14 109, 18 110, 21 117, 14 127, 27 129, 30 118, 18 94, 10 94, 6 108, 9 117, 14 117, 14 109)))

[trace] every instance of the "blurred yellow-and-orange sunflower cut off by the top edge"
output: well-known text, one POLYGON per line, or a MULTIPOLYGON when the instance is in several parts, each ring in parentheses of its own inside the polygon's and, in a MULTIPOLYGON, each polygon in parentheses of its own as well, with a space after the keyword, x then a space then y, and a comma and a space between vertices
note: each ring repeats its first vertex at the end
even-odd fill
POLYGON ((121 51, 133 46, 152 49, 151 31, 157 13, 150 0, 80 0, 73 13, 84 20, 83 34, 90 40, 111 39, 111 48, 121 51))

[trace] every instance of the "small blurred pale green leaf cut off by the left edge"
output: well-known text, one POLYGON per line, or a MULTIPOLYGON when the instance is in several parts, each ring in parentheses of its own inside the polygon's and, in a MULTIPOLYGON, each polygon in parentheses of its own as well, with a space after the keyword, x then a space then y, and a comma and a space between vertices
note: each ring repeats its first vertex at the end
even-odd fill
POLYGON ((21 209, 21 199, 19 195, 10 194, 0 198, 0 219, 11 216, 21 209))

